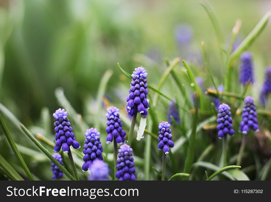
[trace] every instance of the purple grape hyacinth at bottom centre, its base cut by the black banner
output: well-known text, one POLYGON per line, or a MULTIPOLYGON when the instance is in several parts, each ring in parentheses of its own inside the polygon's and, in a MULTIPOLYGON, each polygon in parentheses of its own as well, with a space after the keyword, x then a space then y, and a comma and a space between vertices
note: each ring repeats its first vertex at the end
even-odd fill
POLYGON ((134 168, 134 157, 133 149, 127 145, 121 145, 119 149, 119 158, 117 159, 116 169, 118 170, 115 174, 116 178, 119 180, 136 180, 134 173, 136 169, 134 168))

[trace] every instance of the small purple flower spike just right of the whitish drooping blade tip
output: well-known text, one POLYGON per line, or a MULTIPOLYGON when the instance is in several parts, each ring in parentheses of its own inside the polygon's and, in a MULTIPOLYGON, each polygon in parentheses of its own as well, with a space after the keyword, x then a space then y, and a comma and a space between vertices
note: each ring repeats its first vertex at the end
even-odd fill
POLYGON ((163 121, 159 124, 159 137, 158 137, 158 149, 163 149, 165 154, 169 153, 169 147, 174 147, 174 142, 172 139, 171 129, 169 128, 171 125, 167 121, 163 121))

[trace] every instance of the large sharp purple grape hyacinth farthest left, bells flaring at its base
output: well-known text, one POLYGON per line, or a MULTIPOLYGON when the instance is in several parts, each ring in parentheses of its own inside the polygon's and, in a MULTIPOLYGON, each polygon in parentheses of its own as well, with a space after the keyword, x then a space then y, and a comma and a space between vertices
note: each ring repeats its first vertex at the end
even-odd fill
POLYGON ((74 133, 72 132, 71 123, 68 119, 68 112, 65 109, 57 109, 53 114, 55 117, 55 147, 54 152, 59 152, 61 147, 63 152, 68 152, 70 146, 74 149, 79 149, 80 145, 75 141, 74 133))

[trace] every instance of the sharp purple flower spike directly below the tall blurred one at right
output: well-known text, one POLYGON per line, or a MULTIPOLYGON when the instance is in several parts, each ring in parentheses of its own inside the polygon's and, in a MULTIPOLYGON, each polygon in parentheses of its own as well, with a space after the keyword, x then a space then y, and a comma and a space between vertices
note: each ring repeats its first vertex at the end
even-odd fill
POLYGON ((239 126, 239 131, 241 131, 243 134, 247 134, 249 132, 249 128, 257 131, 259 126, 253 98, 248 96, 244 101, 245 104, 243 107, 242 121, 239 126))

